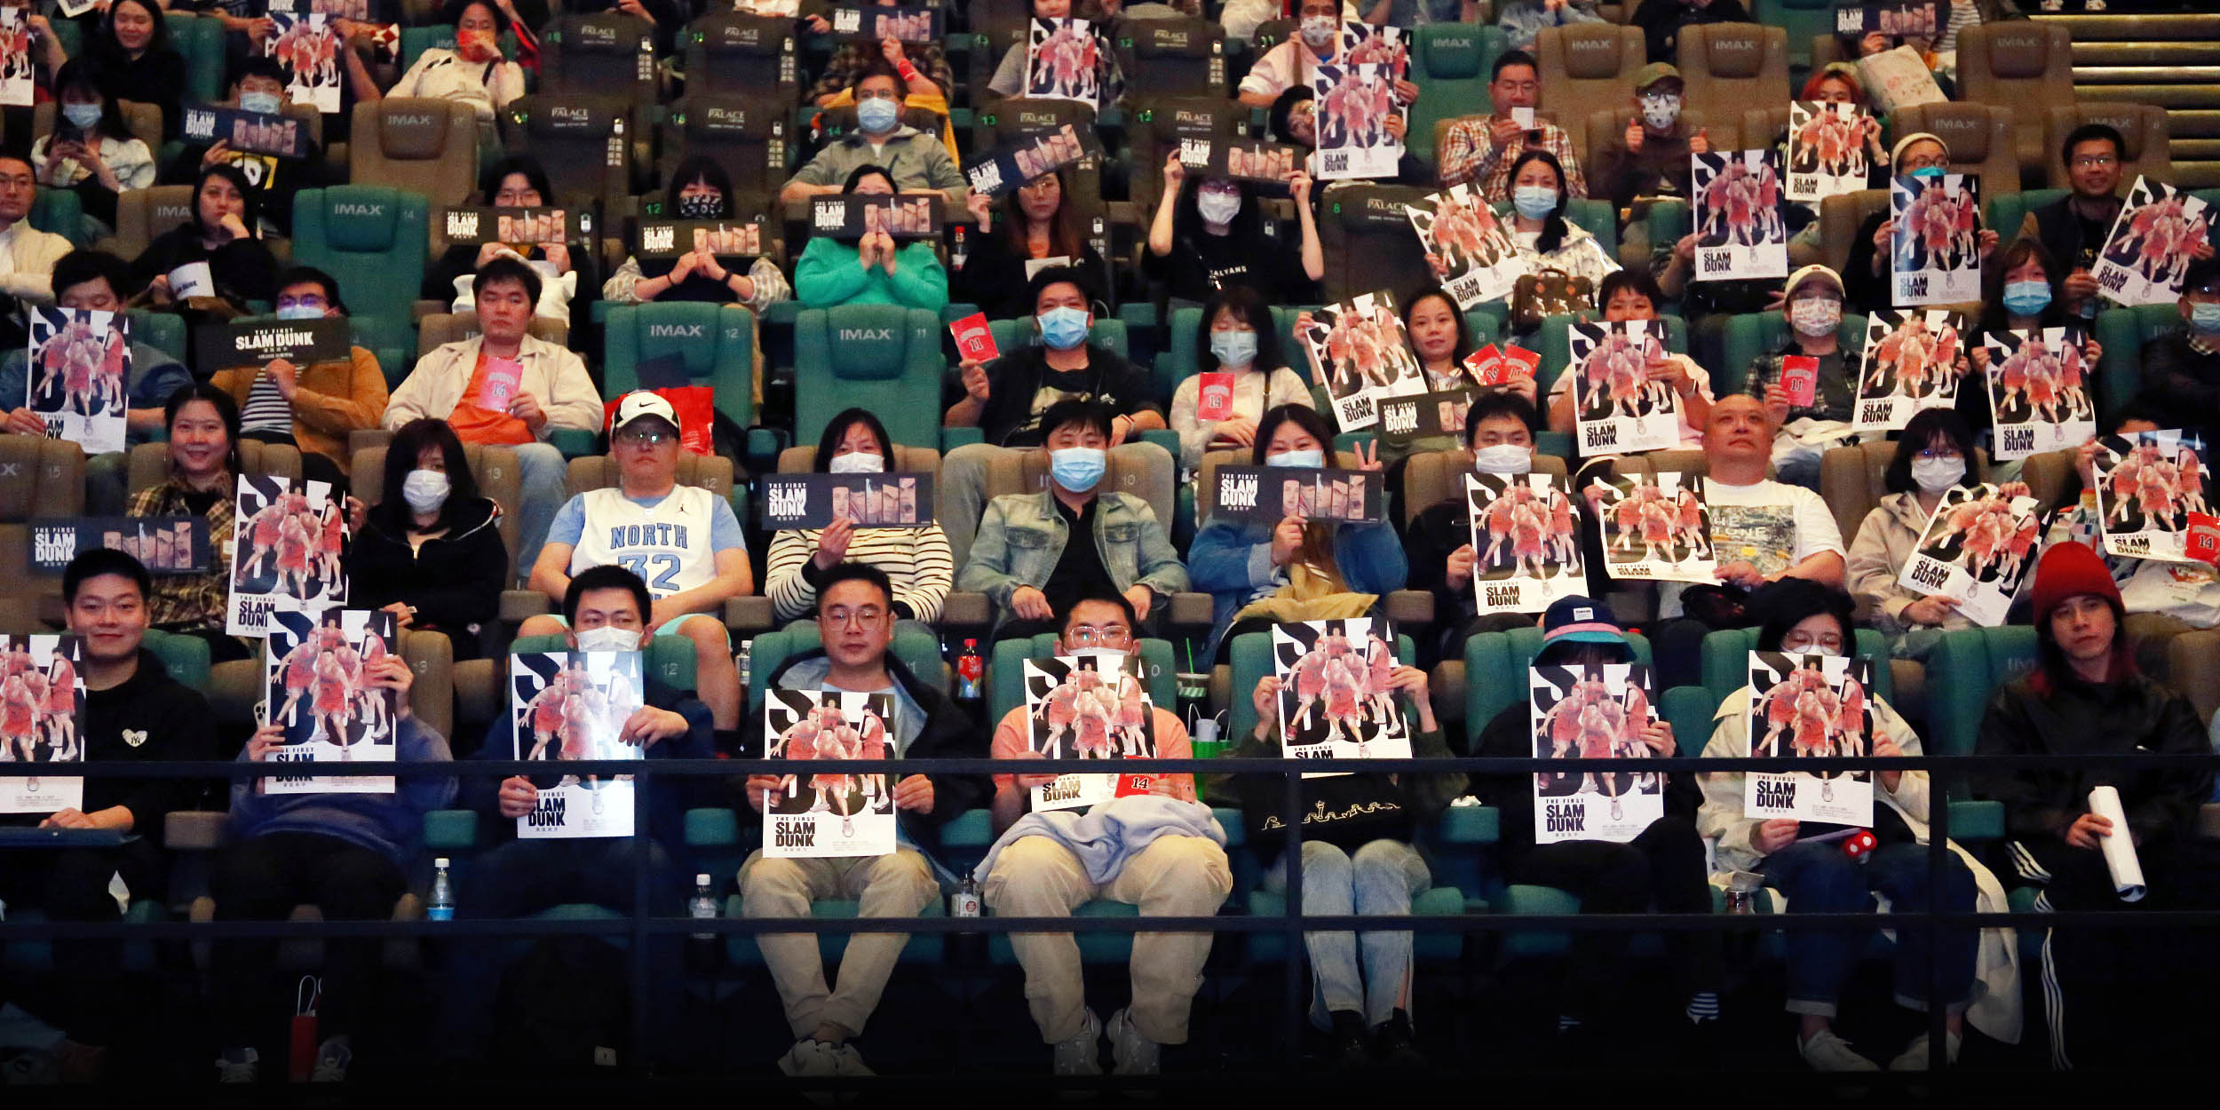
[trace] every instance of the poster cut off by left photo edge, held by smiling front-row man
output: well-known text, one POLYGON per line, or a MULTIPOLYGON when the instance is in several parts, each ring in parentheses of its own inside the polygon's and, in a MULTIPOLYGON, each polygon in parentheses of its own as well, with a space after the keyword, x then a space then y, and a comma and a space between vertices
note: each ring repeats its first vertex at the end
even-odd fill
MULTIPOLYGON (((127 737, 129 739, 129 737, 127 737)), ((0 813, 84 808, 84 646, 73 635, 0 635, 0 813)))

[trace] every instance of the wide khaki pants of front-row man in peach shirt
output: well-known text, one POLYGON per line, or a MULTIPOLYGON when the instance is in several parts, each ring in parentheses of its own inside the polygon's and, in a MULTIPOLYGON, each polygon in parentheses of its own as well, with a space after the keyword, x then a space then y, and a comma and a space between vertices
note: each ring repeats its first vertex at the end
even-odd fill
MULTIPOLYGON (((1021 837, 995 857, 986 904, 1003 917, 1068 917, 1106 897, 1141 908, 1143 917, 1210 917, 1232 890, 1225 850, 1203 837, 1159 837, 1103 886, 1088 881, 1079 857, 1050 837, 1021 837)), ((1210 932, 1132 935, 1132 1023, 1157 1043, 1188 1041, 1188 1003, 1203 986, 1210 932)), ((1070 932, 1012 932, 1026 968, 1026 1003, 1048 1043, 1086 1028, 1079 944, 1070 932)))

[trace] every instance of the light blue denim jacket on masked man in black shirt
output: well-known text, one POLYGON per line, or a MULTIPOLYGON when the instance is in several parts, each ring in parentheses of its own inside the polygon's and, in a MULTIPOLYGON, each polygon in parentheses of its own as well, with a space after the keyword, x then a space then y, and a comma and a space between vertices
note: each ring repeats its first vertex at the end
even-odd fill
MULTIPOLYGON (((1010 593, 1019 586, 1048 586, 1068 539, 1070 528, 1057 513, 1054 493, 1003 493, 979 517, 979 537, 972 539, 970 562, 957 573, 957 588, 988 595, 997 624, 1010 619, 1010 593)), ((1188 568, 1179 564, 1172 537, 1141 497, 1097 495, 1094 551, 1119 593, 1137 582, 1159 595, 1188 588, 1188 568)))

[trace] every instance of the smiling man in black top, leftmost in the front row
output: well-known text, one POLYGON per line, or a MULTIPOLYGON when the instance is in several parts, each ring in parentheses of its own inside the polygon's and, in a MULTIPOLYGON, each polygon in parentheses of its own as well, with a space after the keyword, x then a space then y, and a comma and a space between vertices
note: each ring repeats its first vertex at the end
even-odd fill
MULTIPOLYGON (((84 710, 78 741, 82 759, 182 761, 215 759, 209 702, 169 677, 162 662, 140 646, 147 635, 147 595, 153 579, 138 559, 95 548, 62 571, 69 630, 82 644, 84 710)), ((73 679, 64 679, 73 682, 73 679)), ((49 777, 53 781, 53 777, 49 777)), ((120 875, 133 899, 167 895, 169 859, 162 824, 171 810, 191 808, 191 779, 84 779, 78 806, 51 815, 7 815, 0 826, 82 828, 135 835, 113 846, 11 850, 0 857, 0 904, 7 917, 44 910, 56 921, 115 921, 109 877, 120 875)), ((122 946, 115 941, 56 941, 49 983, 0 977, 0 1001, 58 1023, 67 1039, 53 1050, 64 1077, 98 1074, 107 1043, 122 1032, 133 999, 120 990, 122 946), (20 986, 20 990, 18 990, 20 986)))

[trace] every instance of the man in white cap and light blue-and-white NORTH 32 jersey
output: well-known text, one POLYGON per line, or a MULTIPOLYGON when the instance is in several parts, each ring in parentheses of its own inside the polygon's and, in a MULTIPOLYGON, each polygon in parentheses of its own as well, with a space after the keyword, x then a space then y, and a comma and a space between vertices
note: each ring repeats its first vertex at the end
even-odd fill
MULTIPOLYGON (((717 730, 739 728, 739 668, 724 633, 726 597, 755 591, 748 544, 733 504, 702 486, 679 486, 679 415, 648 391, 617 402, 610 433, 617 484, 571 497, 533 562, 531 588, 562 599, 571 577, 617 564, 655 597, 648 628, 695 646, 695 690, 717 730)), ((557 617, 526 619, 517 635, 562 633, 557 617)))

